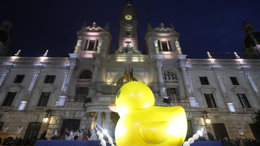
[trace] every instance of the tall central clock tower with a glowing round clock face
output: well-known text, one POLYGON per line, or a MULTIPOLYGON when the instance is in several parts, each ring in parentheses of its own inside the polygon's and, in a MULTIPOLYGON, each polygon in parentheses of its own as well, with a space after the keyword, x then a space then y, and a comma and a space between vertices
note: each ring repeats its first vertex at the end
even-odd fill
MULTIPOLYGON (((126 0, 126 3, 120 10, 120 33, 117 43, 118 50, 127 46, 131 46, 134 50, 139 50, 139 42, 137 39, 137 10, 131 0, 126 0)), ((131 51, 132 53, 133 51, 131 51)), ((130 53, 123 51, 122 53, 130 53)))

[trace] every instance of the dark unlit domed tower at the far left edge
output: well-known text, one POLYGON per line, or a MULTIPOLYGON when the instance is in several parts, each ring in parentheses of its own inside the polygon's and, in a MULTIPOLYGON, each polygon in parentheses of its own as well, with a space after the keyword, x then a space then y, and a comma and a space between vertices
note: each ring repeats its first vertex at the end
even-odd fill
POLYGON ((9 30, 13 27, 11 20, 3 21, 0 27, 0 56, 11 54, 9 30))

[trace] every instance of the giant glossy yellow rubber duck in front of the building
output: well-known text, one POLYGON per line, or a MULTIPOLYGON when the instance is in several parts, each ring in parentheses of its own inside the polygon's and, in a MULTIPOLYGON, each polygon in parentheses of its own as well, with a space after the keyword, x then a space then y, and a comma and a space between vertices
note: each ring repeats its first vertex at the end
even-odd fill
POLYGON ((144 83, 126 83, 109 108, 120 116, 115 131, 117 146, 181 146, 185 140, 183 107, 155 106, 154 95, 144 83))

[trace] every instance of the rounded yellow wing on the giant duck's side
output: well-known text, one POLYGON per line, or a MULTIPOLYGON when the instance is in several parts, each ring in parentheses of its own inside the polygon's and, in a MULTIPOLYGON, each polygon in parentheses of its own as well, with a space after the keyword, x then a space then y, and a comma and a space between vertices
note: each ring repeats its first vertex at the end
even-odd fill
POLYGON ((166 121, 145 122, 140 125, 139 132, 144 142, 155 145, 168 139, 167 127, 168 122, 166 121), (159 134, 162 132, 163 134, 159 134))

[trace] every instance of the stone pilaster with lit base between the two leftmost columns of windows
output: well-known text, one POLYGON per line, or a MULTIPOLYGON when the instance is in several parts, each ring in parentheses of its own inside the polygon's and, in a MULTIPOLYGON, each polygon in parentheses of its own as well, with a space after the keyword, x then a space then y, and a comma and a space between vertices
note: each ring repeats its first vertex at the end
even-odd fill
POLYGON ((35 85, 35 83, 37 81, 37 78, 38 78, 40 72, 41 72, 41 70, 37 70, 37 69, 35 69, 33 71, 34 75, 32 77, 32 81, 31 81, 31 83, 30 83, 30 85, 28 87, 28 90, 26 92, 26 96, 22 99, 22 101, 20 101, 20 105, 18 107, 18 111, 23 111, 25 109, 26 104, 27 104, 27 102, 28 102, 28 100, 29 100, 29 98, 30 98, 30 96, 32 94, 32 89, 33 89, 33 87, 34 87, 34 85, 35 85))

